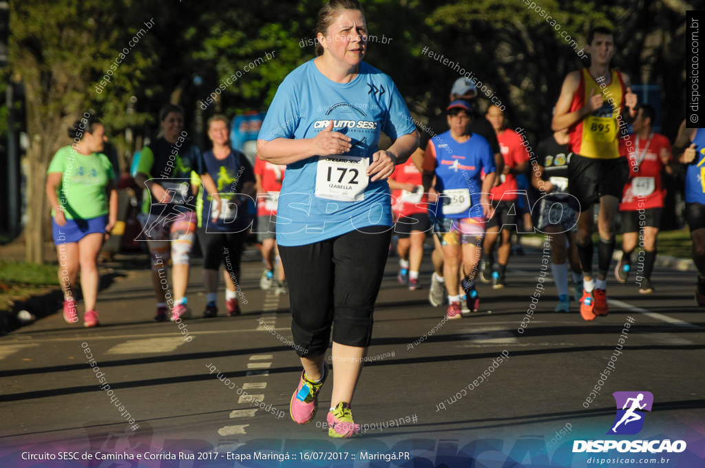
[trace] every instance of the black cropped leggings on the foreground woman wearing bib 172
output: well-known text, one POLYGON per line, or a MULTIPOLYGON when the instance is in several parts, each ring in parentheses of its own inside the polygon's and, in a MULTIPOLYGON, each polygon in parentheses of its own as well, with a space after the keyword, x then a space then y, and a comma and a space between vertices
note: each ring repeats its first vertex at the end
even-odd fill
POLYGON ((369 346, 390 240, 388 226, 370 226, 313 244, 279 245, 299 356, 323 355, 333 324, 334 342, 369 346))

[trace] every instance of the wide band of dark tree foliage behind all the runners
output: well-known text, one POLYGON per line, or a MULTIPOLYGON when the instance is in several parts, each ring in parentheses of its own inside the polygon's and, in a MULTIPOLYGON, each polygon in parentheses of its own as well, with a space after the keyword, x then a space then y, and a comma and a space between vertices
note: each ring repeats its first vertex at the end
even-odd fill
MULTIPOLYGON (((376 36, 366 60, 395 80, 415 116, 425 120, 447 104, 458 72, 423 54, 424 47, 472 72, 507 106, 513 125, 534 135, 550 130, 551 108, 571 70, 586 66, 584 48, 594 25, 615 31, 615 66, 632 82, 661 85, 663 123, 673 136, 685 105, 680 90, 685 8, 680 0, 541 0, 539 11, 525 0, 366 0, 368 29, 376 36), (558 25, 556 29, 555 25, 558 25), (383 42, 383 37, 386 42, 383 42)), ((44 172, 51 155, 66 144, 66 128, 87 109, 106 123, 123 152, 125 128, 153 136, 156 113, 166 101, 187 110, 187 128, 212 113, 233 116, 264 111, 278 84, 293 68, 315 56, 316 13, 321 0, 23 0, 11 2, 11 66, 27 91, 27 131, 32 194, 27 230, 39 232, 47 219, 44 172), (102 94, 94 91, 106 70, 144 23, 144 35, 114 71, 102 94), (303 42, 302 42, 303 39, 303 42), (257 58, 274 58, 245 71, 257 58), (223 80, 241 73, 216 93, 223 80), (200 110, 209 95, 216 102, 200 110), (128 102, 135 97, 135 111, 128 102), (151 134, 151 135, 150 135, 151 134), (36 180, 35 180, 36 179, 36 180)), ((486 97, 481 101, 486 104, 486 97)), ((196 128, 198 130, 202 130, 196 128)), ((438 129, 443 130, 443 129, 438 129)), ((30 236, 27 237, 30 239, 30 236)), ((28 258, 41 261, 38 237, 27 243, 28 258)))

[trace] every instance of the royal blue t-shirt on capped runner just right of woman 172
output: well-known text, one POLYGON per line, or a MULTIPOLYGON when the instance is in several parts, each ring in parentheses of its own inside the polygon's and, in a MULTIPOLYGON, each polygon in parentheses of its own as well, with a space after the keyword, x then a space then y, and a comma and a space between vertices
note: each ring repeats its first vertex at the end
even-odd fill
POLYGON ((457 142, 450 130, 436 135, 429 141, 436 156, 436 191, 443 194, 431 211, 443 218, 477 218, 483 216, 480 197, 482 196, 482 171, 489 174, 496 171, 494 154, 489 142, 481 135, 473 133, 465 142, 457 142), (470 203, 463 203, 470 196, 470 203), (465 209, 443 211, 443 205, 451 202, 465 209), (469 206, 468 206, 469 205, 469 206), (453 212, 456 211, 456 212, 453 212))

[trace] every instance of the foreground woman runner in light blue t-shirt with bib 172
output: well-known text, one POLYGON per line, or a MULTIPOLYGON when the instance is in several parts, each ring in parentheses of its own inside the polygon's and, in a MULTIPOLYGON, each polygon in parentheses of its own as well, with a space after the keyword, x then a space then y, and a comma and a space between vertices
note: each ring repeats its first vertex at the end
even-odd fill
POLYGON ((259 156, 286 164, 276 237, 289 278, 292 333, 304 371, 290 414, 307 424, 335 364, 329 436, 360 431, 350 401, 372 335, 392 214, 388 176, 418 135, 394 82, 362 61, 367 24, 356 0, 331 0, 317 20, 317 58, 279 86, 259 132, 259 156), (380 150, 380 132, 393 140, 380 150), (295 271, 295 275, 291 274, 295 271))

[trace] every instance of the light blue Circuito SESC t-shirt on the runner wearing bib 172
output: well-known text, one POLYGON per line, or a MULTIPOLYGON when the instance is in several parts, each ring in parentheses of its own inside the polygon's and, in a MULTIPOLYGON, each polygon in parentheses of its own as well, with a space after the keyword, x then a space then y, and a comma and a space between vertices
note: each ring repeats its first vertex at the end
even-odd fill
POLYGON ((396 140, 414 132, 415 125, 393 80, 381 71, 361 62, 353 81, 338 83, 313 60, 302 64, 279 86, 259 140, 313 138, 331 120, 332 131, 352 138, 353 147, 286 166, 276 217, 280 245, 306 245, 393 224, 387 181, 369 182, 364 171, 379 151, 380 132, 396 140))

